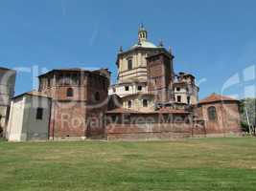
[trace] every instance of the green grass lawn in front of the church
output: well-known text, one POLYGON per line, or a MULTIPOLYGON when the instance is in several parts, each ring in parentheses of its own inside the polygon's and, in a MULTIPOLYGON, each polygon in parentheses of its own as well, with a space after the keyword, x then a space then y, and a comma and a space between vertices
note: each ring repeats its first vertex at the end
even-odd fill
POLYGON ((1 141, 0 190, 256 190, 256 139, 1 141))

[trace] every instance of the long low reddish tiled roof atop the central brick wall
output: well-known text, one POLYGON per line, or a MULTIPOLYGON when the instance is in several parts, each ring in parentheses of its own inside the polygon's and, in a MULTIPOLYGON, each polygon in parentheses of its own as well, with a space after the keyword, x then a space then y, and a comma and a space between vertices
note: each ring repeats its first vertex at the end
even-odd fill
POLYGON ((126 108, 116 108, 114 110, 107 111, 106 114, 189 114, 189 112, 186 112, 185 110, 174 110, 169 108, 161 108, 160 110, 151 111, 151 112, 138 112, 135 110, 130 110, 126 108))

